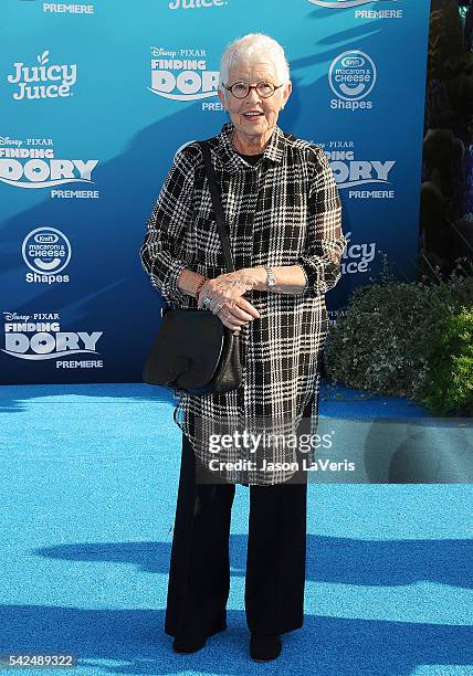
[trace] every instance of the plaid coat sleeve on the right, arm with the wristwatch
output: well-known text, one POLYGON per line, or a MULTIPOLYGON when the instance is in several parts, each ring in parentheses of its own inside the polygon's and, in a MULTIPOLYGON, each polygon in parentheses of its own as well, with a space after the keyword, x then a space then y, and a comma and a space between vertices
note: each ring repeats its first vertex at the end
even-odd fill
POLYGON ((307 249, 297 260, 307 279, 303 292, 325 294, 341 277, 340 261, 347 244, 341 232, 341 201, 327 156, 316 147, 316 163, 309 191, 307 249))

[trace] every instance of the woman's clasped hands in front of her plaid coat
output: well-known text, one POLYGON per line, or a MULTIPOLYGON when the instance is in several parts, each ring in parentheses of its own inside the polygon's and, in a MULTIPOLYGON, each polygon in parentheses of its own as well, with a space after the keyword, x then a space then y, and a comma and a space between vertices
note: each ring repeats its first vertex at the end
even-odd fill
POLYGON ((199 292, 197 306, 203 307, 206 296, 211 298, 209 309, 224 326, 240 332, 242 326, 260 317, 254 305, 242 297, 254 285, 253 276, 249 273, 251 268, 243 268, 207 279, 199 292))

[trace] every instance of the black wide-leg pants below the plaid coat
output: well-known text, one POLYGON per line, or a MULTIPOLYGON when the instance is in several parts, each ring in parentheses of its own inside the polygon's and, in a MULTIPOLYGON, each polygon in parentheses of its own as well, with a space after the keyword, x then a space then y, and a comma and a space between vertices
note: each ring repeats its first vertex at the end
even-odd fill
MULTIPOLYGON (((301 430, 301 427, 299 427, 301 430)), ((251 632, 303 625, 307 484, 250 485, 245 612, 251 632)), ((165 632, 208 635, 227 620, 234 484, 197 484, 186 435, 169 568, 165 632)))

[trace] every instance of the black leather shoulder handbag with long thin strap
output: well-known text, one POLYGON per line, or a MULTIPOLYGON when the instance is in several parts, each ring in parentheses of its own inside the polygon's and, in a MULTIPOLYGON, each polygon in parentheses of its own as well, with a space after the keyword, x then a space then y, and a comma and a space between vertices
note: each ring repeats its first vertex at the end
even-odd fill
MULTIPOLYGON (((208 141, 200 141, 216 222, 229 272, 234 271, 219 188, 208 141)), ((146 360, 143 380, 189 394, 222 393, 242 384, 240 336, 208 309, 161 310, 158 335, 146 360)))

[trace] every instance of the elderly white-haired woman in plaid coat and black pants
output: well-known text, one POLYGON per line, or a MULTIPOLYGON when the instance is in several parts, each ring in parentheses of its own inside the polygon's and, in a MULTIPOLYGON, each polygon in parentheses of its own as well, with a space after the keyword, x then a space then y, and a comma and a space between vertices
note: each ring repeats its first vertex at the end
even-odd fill
MULTIPOLYGON (((209 471, 216 460, 199 443, 202 421, 227 430, 254 429, 257 421, 280 429, 290 421, 297 432, 314 432, 317 424, 328 326, 324 294, 340 277, 346 240, 324 151, 277 126, 291 88, 284 51, 267 35, 245 35, 224 51, 218 93, 230 122, 209 142, 235 272, 225 270, 196 141, 176 154, 140 249, 143 266, 165 300, 214 313, 239 332, 243 360, 241 387, 182 393, 175 411, 182 455, 165 632, 175 636, 179 653, 202 648, 227 629, 235 484, 250 487, 244 599, 250 656, 274 659, 281 634, 303 625, 306 472, 301 477, 294 462, 244 471, 223 462, 219 480, 196 479, 197 467, 209 471)), ((233 444, 218 457, 249 455, 233 444)), ((277 447, 272 457, 294 460, 294 451, 277 447)))

